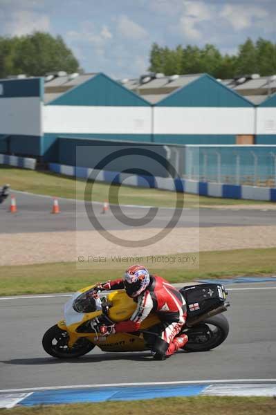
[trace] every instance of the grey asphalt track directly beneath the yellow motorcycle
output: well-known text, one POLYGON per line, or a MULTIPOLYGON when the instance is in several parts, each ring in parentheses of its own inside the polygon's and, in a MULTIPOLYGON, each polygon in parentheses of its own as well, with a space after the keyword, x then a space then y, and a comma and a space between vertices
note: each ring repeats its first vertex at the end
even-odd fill
POLYGON ((103 353, 98 347, 76 360, 51 358, 42 349, 42 335, 62 317, 66 298, 0 298, 0 389, 276 378, 276 284, 228 289, 226 342, 208 352, 181 351, 165 362, 151 360, 148 352, 103 353))

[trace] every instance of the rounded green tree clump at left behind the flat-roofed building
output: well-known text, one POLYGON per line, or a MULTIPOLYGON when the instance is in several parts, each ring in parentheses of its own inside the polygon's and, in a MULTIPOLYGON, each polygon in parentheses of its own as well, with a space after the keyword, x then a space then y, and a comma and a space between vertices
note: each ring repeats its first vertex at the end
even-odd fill
POLYGON ((36 32, 31 35, 0 37, 0 77, 43 76, 48 72, 79 70, 79 62, 61 36, 36 32))

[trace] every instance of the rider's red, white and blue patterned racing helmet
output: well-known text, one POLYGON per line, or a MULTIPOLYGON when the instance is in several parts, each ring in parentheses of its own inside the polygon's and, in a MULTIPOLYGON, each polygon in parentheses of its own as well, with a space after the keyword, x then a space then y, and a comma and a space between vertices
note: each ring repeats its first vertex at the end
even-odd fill
POLYGON ((137 297, 149 285, 149 271, 145 266, 132 265, 125 271, 124 286, 129 297, 137 297))

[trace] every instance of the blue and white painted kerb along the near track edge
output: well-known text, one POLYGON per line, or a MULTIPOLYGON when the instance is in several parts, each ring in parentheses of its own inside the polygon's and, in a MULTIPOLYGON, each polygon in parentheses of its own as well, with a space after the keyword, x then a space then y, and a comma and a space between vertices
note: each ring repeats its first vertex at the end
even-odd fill
POLYGON ((140 400, 187 396, 276 396, 275 379, 194 380, 145 382, 118 385, 83 385, 6 389, 0 391, 0 408, 16 405, 96 403, 110 400, 140 400))

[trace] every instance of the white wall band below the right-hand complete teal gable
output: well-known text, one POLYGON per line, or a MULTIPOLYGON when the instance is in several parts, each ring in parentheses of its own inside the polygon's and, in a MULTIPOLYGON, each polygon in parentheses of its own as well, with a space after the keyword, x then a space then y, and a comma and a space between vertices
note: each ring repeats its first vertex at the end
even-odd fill
POLYGON ((254 134, 254 108, 155 107, 155 134, 254 134))

